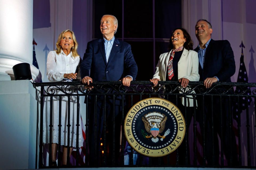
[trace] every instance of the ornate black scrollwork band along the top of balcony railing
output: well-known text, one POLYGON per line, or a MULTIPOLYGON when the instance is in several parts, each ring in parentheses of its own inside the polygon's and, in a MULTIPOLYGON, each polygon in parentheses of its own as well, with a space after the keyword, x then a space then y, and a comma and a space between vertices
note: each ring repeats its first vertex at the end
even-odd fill
MULTIPOLYGON (((182 95, 256 95, 256 83, 217 82, 206 89, 203 82, 189 82, 188 88, 182 88, 179 82, 161 81, 154 86, 149 81, 132 81, 129 87, 121 81, 93 82, 88 86, 81 82, 33 83, 34 87, 43 86, 44 95, 92 95, 92 94, 182 94, 182 95), (195 93, 194 93, 195 91, 195 93), (181 93, 180 93, 181 92, 181 93), (231 93, 232 92, 232 93, 231 93)), ((37 88, 38 90, 39 88, 37 88)), ((38 93, 38 91, 37 91, 38 93)), ((40 96, 40 95, 39 95, 40 96)), ((38 98, 39 98, 38 96, 38 98)))

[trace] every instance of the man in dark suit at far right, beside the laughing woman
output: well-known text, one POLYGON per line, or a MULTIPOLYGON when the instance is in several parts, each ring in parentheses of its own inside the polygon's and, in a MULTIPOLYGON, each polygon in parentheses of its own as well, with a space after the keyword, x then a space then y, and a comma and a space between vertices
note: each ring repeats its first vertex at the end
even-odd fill
MULTIPOLYGON (((194 51, 198 52, 199 81, 203 81, 206 88, 210 88, 215 82, 231 82, 230 77, 235 73, 234 53, 229 41, 211 39, 212 32, 211 24, 207 20, 198 20, 195 25, 195 34, 199 45, 194 51)), ((198 96, 197 100, 198 114, 196 116, 202 134, 203 128, 205 128, 205 156, 208 165, 219 165, 218 135, 223 142, 222 149, 228 164, 236 165, 237 147, 232 130, 231 110, 229 109, 231 101, 224 96, 222 99, 219 96, 213 96, 211 101, 210 96, 205 96, 205 102, 202 105, 202 96, 198 96), (203 116, 205 117, 204 125, 203 116)))

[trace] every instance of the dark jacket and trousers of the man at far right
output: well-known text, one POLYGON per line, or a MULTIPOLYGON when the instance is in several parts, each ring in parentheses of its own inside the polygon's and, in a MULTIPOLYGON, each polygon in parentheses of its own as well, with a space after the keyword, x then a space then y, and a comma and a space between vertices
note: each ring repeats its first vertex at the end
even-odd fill
MULTIPOLYGON (((199 47, 197 47, 194 50, 198 52, 199 47)), ((209 45, 207 46, 203 69, 199 64, 199 75, 200 75, 199 81, 204 81, 208 77, 210 78, 210 77, 216 76, 218 77, 220 82, 231 82, 230 77, 234 75, 234 73, 235 73, 234 53, 230 46, 229 41, 211 40, 209 45)), ((233 91, 230 90, 229 93, 233 94, 233 91)), ((238 159, 237 159, 237 152, 236 152, 235 135, 233 130, 231 131, 231 133, 229 132, 230 123, 232 125, 232 119, 231 119, 231 122, 229 121, 230 120, 229 99, 228 97, 223 96, 222 100, 220 100, 219 96, 213 96, 213 99, 211 102, 211 96, 205 96, 204 100, 207 102, 204 102, 204 105, 202 105, 203 96, 197 96, 197 101, 198 101, 197 102, 198 103, 197 118, 198 118, 199 125, 201 127, 201 131, 205 129, 205 146, 206 146, 205 156, 206 156, 208 165, 219 164, 219 145, 218 145, 219 141, 218 141, 217 134, 221 136, 222 133, 223 133, 223 137, 220 137, 220 138, 223 142, 223 151, 226 156, 226 159, 228 160, 228 164, 229 164, 229 160, 232 158, 233 165, 236 165, 238 163, 238 159), (211 109, 212 107, 211 105, 213 105, 213 110, 211 109), (222 120, 222 122, 220 120, 222 120), (204 121, 205 121, 205 125, 203 124, 204 121), (222 132, 220 131, 219 127, 222 127, 222 132), (212 146, 214 146, 214 151, 212 146), (231 153, 232 153, 232 157, 231 157, 231 153), (213 155, 214 155, 214 160, 213 160, 213 155)), ((231 105, 232 105, 232 102, 231 102, 231 105)))

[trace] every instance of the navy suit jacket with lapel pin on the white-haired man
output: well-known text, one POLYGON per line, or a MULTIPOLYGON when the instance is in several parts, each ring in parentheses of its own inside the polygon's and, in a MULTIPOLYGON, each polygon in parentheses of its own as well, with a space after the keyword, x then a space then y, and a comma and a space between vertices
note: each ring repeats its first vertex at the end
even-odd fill
POLYGON ((117 81, 127 75, 135 80, 137 72, 130 44, 117 39, 114 40, 108 62, 103 38, 90 41, 80 65, 81 79, 90 76, 94 81, 117 81))

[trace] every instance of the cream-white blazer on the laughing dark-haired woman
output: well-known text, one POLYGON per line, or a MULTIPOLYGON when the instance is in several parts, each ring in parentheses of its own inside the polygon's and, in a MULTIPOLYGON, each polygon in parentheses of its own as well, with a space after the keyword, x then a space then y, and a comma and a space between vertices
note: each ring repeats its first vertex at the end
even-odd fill
MULTIPOLYGON (((156 71, 153 78, 166 81, 165 78, 166 78, 167 65, 169 62, 170 54, 171 54, 171 51, 160 55, 157 66, 155 67, 156 71)), ((174 57, 175 57, 175 54, 174 54, 174 57)), ((181 79, 181 78, 189 79, 189 81, 199 81, 197 52, 193 50, 188 51, 185 48, 183 49, 181 58, 179 59, 179 62, 178 62, 178 79, 181 79)), ((185 91, 187 90, 189 90, 188 87, 186 87, 185 91)), ((179 91, 179 93, 183 93, 183 92, 179 91)), ((192 93, 195 93, 195 91, 193 91, 192 93)), ((184 100, 185 100, 185 97, 181 97, 181 102, 183 105, 185 105, 184 100)), ((187 106, 193 107, 193 96, 191 95, 187 96, 187 106)))

